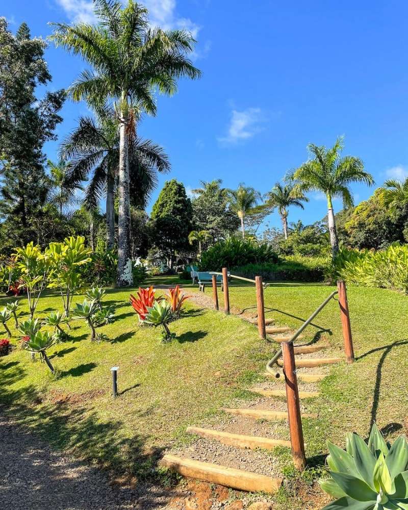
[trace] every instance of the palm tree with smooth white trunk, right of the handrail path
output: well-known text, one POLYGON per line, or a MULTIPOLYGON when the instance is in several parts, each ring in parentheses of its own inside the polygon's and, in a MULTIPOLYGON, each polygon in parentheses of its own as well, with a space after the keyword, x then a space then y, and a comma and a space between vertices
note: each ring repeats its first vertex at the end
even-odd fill
POLYGON ((360 158, 354 156, 341 157, 343 138, 340 137, 331 148, 308 145, 313 159, 303 163, 297 170, 293 170, 288 179, 296 184, 296 192, 323 192, 327 198, 327 218, 330 234, 331 252, 335 257, 339 251, 333 199, 342 198, 345 208, 353 206, 353 197, 349 185, 351 183, 374 184, 373 176, 364 171, 360 158))

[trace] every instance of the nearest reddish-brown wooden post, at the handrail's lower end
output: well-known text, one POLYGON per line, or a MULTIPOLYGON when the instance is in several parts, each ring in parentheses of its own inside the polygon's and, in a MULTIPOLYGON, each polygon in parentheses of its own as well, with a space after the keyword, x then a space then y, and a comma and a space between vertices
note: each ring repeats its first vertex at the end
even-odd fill
POLYGON ((292 444, 293 464, 296 469, 303 471, 306 465, 306 456, 304 454, 302 419, 300 416, 299 391, 297 389, 293 342, 283 342, 282 351, 284 356, 284 374, 286 382, 286 398, 288 401, 289 430, 290 441, 292 444))

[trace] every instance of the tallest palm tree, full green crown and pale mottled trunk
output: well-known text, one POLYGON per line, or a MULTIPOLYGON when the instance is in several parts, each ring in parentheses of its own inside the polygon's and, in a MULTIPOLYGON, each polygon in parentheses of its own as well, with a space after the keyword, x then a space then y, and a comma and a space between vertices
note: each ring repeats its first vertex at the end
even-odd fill
POLYGON ((75 101, 101 105, 113 101, 119 119, 118 286, 133 284, 130 243, 129 132, 136 129, 135 109, 157 111, 154 90, 167 95, 177 79, 199 78, 200 71, 187 55, 195 40, 183 30, 151 29, 148 11, 128 0, 94 0, 97 26, 55 23, 52 39, 74 55, 81 55, 92 70, 84 70, 69 89, 75 101))

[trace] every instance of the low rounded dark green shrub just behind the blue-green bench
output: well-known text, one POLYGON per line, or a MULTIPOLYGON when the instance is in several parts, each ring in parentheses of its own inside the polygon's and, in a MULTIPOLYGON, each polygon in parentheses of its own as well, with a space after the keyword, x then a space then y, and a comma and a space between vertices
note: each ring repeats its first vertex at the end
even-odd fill
POLYGON ((232 237, 226 241, 218 241, 211 248, 203 251, 200 269, 220 271, 223 267, 276 262, 278 262, 278 256, 268 244, 259 243, 253 239, 243 240, 232 237))

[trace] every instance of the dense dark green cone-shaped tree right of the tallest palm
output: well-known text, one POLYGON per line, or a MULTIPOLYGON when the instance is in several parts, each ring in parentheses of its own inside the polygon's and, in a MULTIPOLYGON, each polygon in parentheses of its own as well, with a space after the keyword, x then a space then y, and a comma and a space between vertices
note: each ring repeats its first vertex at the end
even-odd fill
POLYGON ((152 242, 166 254, 170 269, 175 252, 189 245, 192 214, 184 185, 175 179, 167 181, 152 208, 150 228, 152 242))

